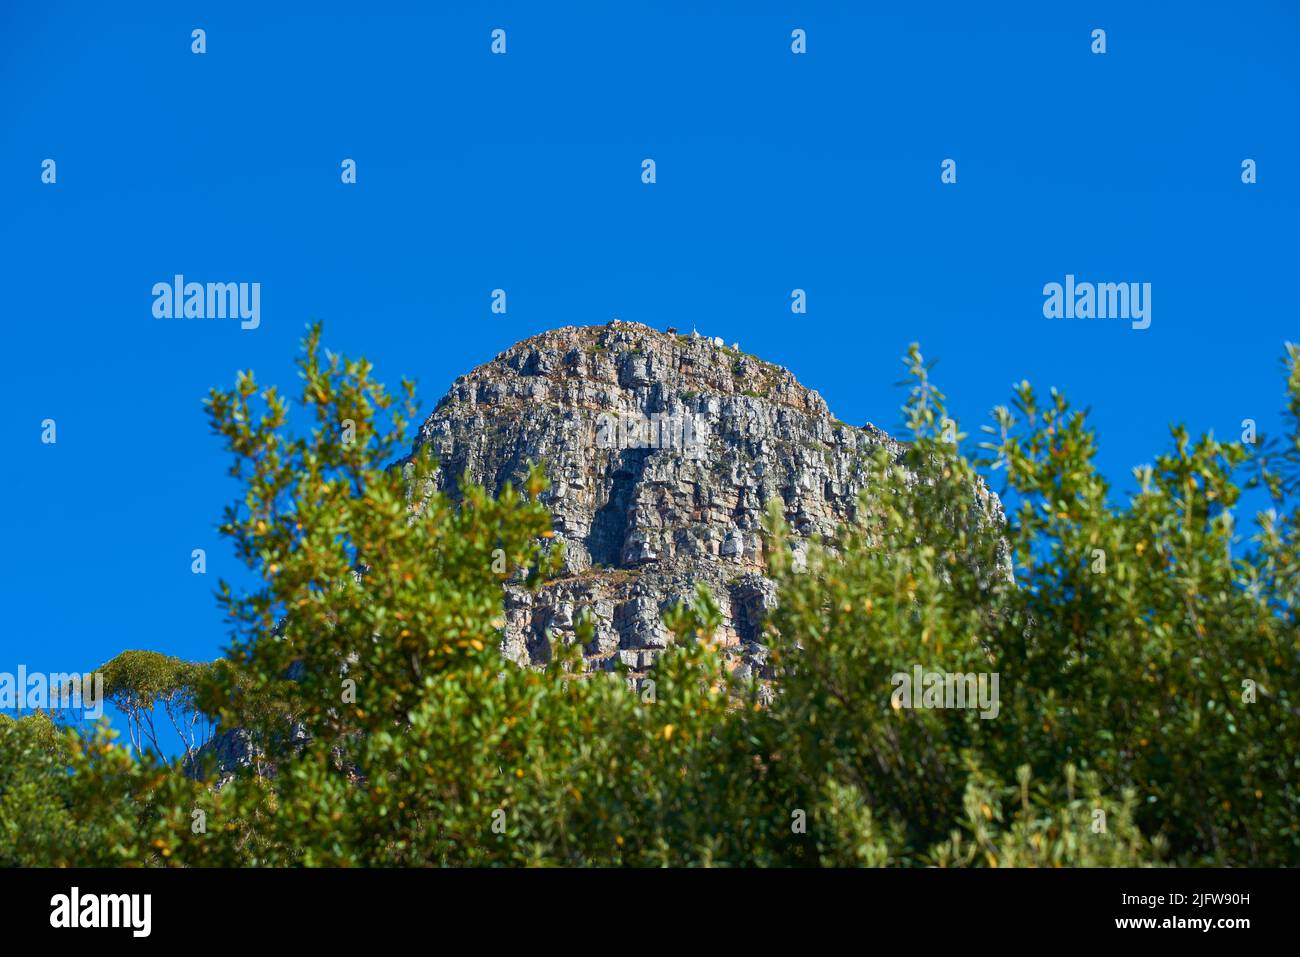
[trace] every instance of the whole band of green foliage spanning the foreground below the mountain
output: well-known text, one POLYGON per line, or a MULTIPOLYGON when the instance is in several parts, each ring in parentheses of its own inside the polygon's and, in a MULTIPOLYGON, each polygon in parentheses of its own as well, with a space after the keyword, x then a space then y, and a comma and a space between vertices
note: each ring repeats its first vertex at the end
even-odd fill
POLYGON ((494 559, 529 586, 559 562, 542 469, 495 498, 433 492, 426 456, 391 464, 413 386, 394 398, 313 329, 304 429, 251 373, 208 400, 244 490, 222 532, 255 576, 222 583, 228 657, 104 668, 136 727, 192 701, 259 759, 205 779, 104 729, 0 720, 0 862, 1300 861, 1300 354, 1287 439, 1174 428, 1123 494, 1062 395, 1020 385, 966 455, 915 348, 907 363, 911 442, 863 462, 861 521, 796 562, 770 515, 764 703, 723 667, 707 590, 666 614, 676 641, 649 684, 581 674, 576 646, 545 670, 504 662, 494 559), (1251 488, 1275 508, 1243 541, 1251 488), (996 676, 996 707, 913 707, 894 683, 918 668, 996 676))

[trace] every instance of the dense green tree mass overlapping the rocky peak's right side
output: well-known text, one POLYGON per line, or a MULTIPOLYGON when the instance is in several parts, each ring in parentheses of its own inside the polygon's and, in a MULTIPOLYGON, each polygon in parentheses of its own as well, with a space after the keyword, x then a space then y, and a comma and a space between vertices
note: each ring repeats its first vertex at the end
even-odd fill
MULTIPOLYGON (((944 397, 915 347, 909 365, 914 442, 902 463, 871 462, 870 518, 836 550, 814 547, 806 572, 772 523, 775 720, 826 830, 849 796, 876 832, 897 835, 884 843, 890 861, 935 859, 954 826, 987 845, 980 830, 997 814, 982 823, 972 794, 993 813, 1001 781, 1078 774, 1095 810, 1122 822, 1114 853, 1079 832, 1072 785, 1022 801, 1011 836, 1041 814, 1053 840, 1075 822, 1067 863, 1295 863, 1297 514, 1261 516, 1244 547, 1236 506, 1251 450, 1175 426, 1174 449, 1115 502, 1093 465, 1096 436, 1062 395, 1044 403, 1019 386, 971 462, 941 426, 944 397), (976 465, 1005 476, 1005 525, 991 520, 976 465), (997 716, 896 707, 890 676, 915 666, 997 675, 997 716)), ((1295 348, 1288 387, 1300 436, 1295 348)), ((1254 464, 1258 484, 1283 492, 1254 464)), ((1015 841, 1004 863, 1040 859, 1015 841)))

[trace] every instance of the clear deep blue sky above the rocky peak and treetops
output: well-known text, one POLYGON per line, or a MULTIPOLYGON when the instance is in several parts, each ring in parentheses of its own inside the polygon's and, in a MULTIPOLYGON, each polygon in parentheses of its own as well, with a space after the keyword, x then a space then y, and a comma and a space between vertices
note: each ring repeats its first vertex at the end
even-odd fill
POLYGON ((426 410, 618 316, 738 341, 853 424, 897 428, 911 341, 970 432, 1013 381, 1063 387, 1121 488, 1173 421, 1273 430, 1297 26, 1288 3, 10 0, 0 671, 218 654, 235 490, 200 400, 239 368, 292 385, 313 319, 426 410), (176 273, 260 282, 260 328, 155 320, 176 273), (1150 328, 1044 319, 1066 273, 1150 282, 1150 328))

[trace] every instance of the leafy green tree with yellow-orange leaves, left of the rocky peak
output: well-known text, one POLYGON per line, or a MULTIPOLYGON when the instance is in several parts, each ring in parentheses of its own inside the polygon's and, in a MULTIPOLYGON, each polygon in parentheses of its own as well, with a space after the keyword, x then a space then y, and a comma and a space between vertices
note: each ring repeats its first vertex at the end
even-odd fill
POLYGON ((172 862, 259 865, 767 854, 751 840, 767 822, 745 814, 744 710, 707 641, 711 597, 671 616, 682 642, 650 697, 623 675, 578 675, 576 649, 545 672, 506 664, 494 553, 529 585, 560 558, 542 472, 495 499, 429 492, 429 459, 389 465, 415 411, 410 384, 398 410, 364 360, 322 358, 317 337, 300 364, 309 433, 291 434, 287 403, 251 374, 209 399, 247 489, 222 532, 259 584, 222 583, 240 637, 202 697, 276 770, 186 793, 205 835, 185 801, 162 802, 173 810, 150 846, 172 862))

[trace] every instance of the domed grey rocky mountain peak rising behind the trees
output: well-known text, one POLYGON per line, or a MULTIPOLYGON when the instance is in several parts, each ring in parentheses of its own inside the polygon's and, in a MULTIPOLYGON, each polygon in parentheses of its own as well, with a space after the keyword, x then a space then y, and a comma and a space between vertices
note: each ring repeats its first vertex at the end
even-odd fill
POLYGON ((862 459, 878 446, 905 449, 871 425, 836 421, 777 365, 619 321, 536 335, 462 376, 416 439, 452 497, 463 478, 494 493, 519 488, 530 462, 550 476, 542 501, 566 568, 537 594, 506 586, 508 658, 545 662, 589 607, 597 628, 585 666, 645 670, 668 641, 663 610, 703 583, 742 675, 766 658, 768 502, 796 533, 796 553, 800 540, 833 536, 854 518, 862 459))

